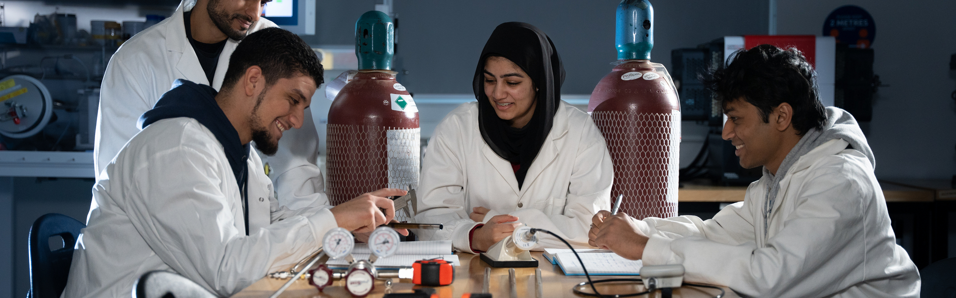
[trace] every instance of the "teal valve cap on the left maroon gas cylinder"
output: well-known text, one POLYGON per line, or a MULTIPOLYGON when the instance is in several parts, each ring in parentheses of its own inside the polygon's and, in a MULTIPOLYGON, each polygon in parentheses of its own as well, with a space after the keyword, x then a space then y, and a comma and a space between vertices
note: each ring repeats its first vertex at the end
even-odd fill
POLYGON ((391 70, 395 55, 395 23, 381 11, 362 13, 356 22, 359 70, 391 70))

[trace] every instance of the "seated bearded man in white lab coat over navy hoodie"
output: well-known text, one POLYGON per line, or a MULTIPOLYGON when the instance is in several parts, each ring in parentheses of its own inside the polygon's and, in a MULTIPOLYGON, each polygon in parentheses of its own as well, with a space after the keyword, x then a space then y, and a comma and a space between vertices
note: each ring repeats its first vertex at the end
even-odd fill
POLYGON ((303 124, 322 83, 292 32, 254 32, 232 53, 221 92, 180 79, 100 173, 63 297, 129 297, 143 273, 169 270, 229 296, 320 247, 332 228, 368 232, 395 215, 380 189, 333 208, 291 210, 251 151, 275 153, 303 124))

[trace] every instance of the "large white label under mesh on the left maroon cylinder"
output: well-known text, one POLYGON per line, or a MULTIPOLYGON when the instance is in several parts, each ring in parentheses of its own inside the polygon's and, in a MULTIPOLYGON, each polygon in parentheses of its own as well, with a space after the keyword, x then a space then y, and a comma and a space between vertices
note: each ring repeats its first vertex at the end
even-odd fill
POLYGON ((419 164, 422 151, 422 129, 389 129, 388 138, 388 187, 408 190, 408 185, 418 187, 419 164))

